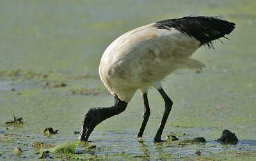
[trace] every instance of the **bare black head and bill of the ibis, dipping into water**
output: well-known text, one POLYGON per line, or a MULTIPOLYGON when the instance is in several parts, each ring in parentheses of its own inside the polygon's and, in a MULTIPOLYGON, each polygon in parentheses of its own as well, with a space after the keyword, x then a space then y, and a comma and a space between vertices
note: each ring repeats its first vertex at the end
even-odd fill
POLYGON ((88 137, 92 133, 93 129, 102 122, 102 116, 100 113, 100 108, 89 109, 83 118, 83 127, 80 130, 81 141, 88 141, 88 137))

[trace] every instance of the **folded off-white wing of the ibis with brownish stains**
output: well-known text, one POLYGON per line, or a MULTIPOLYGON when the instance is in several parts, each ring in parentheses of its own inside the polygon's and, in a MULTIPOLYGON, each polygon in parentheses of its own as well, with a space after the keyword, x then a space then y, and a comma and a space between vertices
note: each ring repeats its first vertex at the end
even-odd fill
POLYGON ((204 65, 198 60, 189 60, 199 46, 195 38, 174 28, 157 29, 154 24, 146 25, 113 42, 109 74, 130 82, 151 83, 178 68, 202 68, 204 65))

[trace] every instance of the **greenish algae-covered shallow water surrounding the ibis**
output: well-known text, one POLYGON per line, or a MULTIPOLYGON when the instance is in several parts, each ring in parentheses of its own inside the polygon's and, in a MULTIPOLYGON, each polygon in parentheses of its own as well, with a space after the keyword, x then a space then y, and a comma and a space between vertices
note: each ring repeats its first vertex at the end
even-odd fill
MULTIPOLYGON (((41 141, 53 146, 76 142, 86 109, 110 106, 113 97, 98 76, 105 48, 135 27, 187 15, 218 15, 236 23, 215 51, 200 48, 193 57, 207 66, 202 73, 168 76, 163 87, 172 97, 164 129, 184 140, 205 137, 205 144, 152 143, 164 111, 150 90, 152 114, 144 143, 136 134, 143 113, 136 93, 127 110, 101 123, 79 154, 62 158, 106 160, 255 160, 256 76, 255 1, 1 1, 0 2, 0 160, 36 160, 41 141), (23 125, 5 125, 13 114, 23 125), (45 136, 46 127, 58 134, 45 136), (222 130, 236 133, 239 143, 215 140, 222 130), (96 148, 95 148, 96 146, 96 148), (15 152, 20 147, 22 152, 15 152), (87 147, 87 146, 86 146, 87 147), (196 151, 201 155, 196 155, 196 151), (82 152, 81 152, 82 151, 82 152)), ((46 149, 46 148, 44 148, 46 149)))

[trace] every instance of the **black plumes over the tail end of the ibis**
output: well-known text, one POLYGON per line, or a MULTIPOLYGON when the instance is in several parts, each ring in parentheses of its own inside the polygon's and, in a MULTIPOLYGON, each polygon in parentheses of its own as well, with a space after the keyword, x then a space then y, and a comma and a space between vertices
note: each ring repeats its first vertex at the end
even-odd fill
POLYGON ((202 45, 214 48, 212 40, 226 38, 235 29, 233 22, 221 20, 218 17, 183 17, 178 19, 162 20, 157 22, 159 29, 170 29, 171 27, 191 36, 202 45))

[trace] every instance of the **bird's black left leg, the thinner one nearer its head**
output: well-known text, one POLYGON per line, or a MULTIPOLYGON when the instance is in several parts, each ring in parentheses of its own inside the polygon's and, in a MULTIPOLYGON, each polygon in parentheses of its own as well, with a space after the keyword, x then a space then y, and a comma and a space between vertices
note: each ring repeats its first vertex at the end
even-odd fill
POLYGON ((146 127, 147 122, 148 122, 148 118, 150 116, 150 108, 149 108, 149 105, 148 105, 148 95, 147 95, 147 93, 143 94, 143 101, 144 101, 143 122, 141 123, 141 126, 140 126, 140 131, 138 133, 138 138, 142 137, 143 132, 144 132, 145 127, 146 127))

